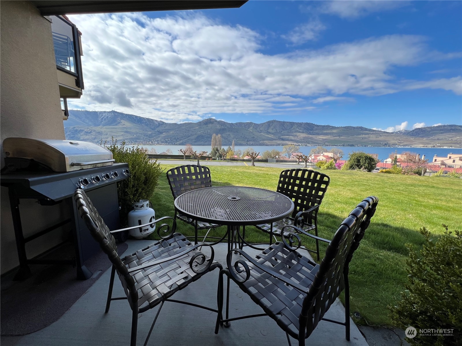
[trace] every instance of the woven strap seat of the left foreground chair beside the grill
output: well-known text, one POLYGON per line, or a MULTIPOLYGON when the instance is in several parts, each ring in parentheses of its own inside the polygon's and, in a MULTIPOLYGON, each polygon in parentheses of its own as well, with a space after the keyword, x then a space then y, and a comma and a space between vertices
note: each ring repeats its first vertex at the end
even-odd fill
MULTIPOLYGON (((161 239, 145 249, 126 256, 122 262, 128 269, 175 256, 193 245, 180 233, 174 233, 170 239, 161 239)), ((188 252, 180 259, 164 262, 156 266, 134 272, 135 288, 138 291, 138 307, 140 311, 150 309, 173 293, 188 286, 203 274, 196 274, 189 266, 191 258, 201 254, 199 250, 188 252)), ((207 265, 195 263, 195 269, 200 270, 207 265)))

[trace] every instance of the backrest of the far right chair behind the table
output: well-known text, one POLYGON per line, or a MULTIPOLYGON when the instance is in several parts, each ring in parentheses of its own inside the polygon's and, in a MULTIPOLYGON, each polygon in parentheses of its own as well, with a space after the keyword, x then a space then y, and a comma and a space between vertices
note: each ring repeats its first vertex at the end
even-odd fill
POLYGON ((321 204, 330 178, 312 169, 286 169, 279 176, 277 192, 291 198, 294 203, 292 217, 299 211, 321 204))

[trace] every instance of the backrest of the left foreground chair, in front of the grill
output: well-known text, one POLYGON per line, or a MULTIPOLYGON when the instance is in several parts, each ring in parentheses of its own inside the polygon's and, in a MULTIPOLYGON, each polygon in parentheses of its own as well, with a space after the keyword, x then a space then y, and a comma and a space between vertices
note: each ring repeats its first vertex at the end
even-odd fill
POLYGON ((130 297, 128 302, 132 308, 138 308, 138 292, 135 288, 135 281, 131 274, 128 273, 127 266, 117 254, 116 239, 109 233, 109 228, 104 223, 103 218, 98 214, 85 191, 77 189, 74 192, 74 199, 77 210, 90 230, 91 236, 98 242, 103 252, 108 255, 109 260, 116 268, 123 289, 127 297, 130 297))

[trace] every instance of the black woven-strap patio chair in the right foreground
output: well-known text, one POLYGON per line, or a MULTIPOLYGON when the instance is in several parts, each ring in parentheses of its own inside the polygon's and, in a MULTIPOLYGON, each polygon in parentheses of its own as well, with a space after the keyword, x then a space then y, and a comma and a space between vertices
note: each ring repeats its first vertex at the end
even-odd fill
MULTIPOLYGON (((348 268, 353 252, 358 248, 366 228, 371 222, 378 203, 377 197, 367 197, 340 224, 334 238, 329 241, 307 233, 310 237, 328 243, 321 264, 301 255, 297 229, 289 225, 282 229, 282 242, 270 245, 265 251, 249 256, 234 249, 226 257, 227 268, 220 271, 219 293, 223 292, 223 274, 226 274, 265 311, 263 314, 228 318, 229 300, 226 301, 226 318, 218 315, 215 334, 220 323, 256 316, 270 316, 287 335, 305 344, 319 321, 325 320, 345 326, 346 340, 350 340, 350 292, 348 268), (287 236, 285 231, 288 232, 287 236), (297 246, 294 244, 297 243, 297 246), (235 254, 240 255, 233 261, 235 254), (345 289, 345 322, 323 318, 340 292, 345 289)), ((298 229, 300 231, 300 229, 298 229)), ((221 298, 219 310, 223 308, 221 298)))

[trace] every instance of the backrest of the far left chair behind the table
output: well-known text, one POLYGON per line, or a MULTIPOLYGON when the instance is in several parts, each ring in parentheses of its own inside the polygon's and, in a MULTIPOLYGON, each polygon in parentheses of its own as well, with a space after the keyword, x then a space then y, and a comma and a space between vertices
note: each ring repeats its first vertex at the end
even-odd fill
POLYGON ((212 186, 212 177, 207 166, 184 165, 170 168, 167 179, 173 198, 193 189, 212 186))

